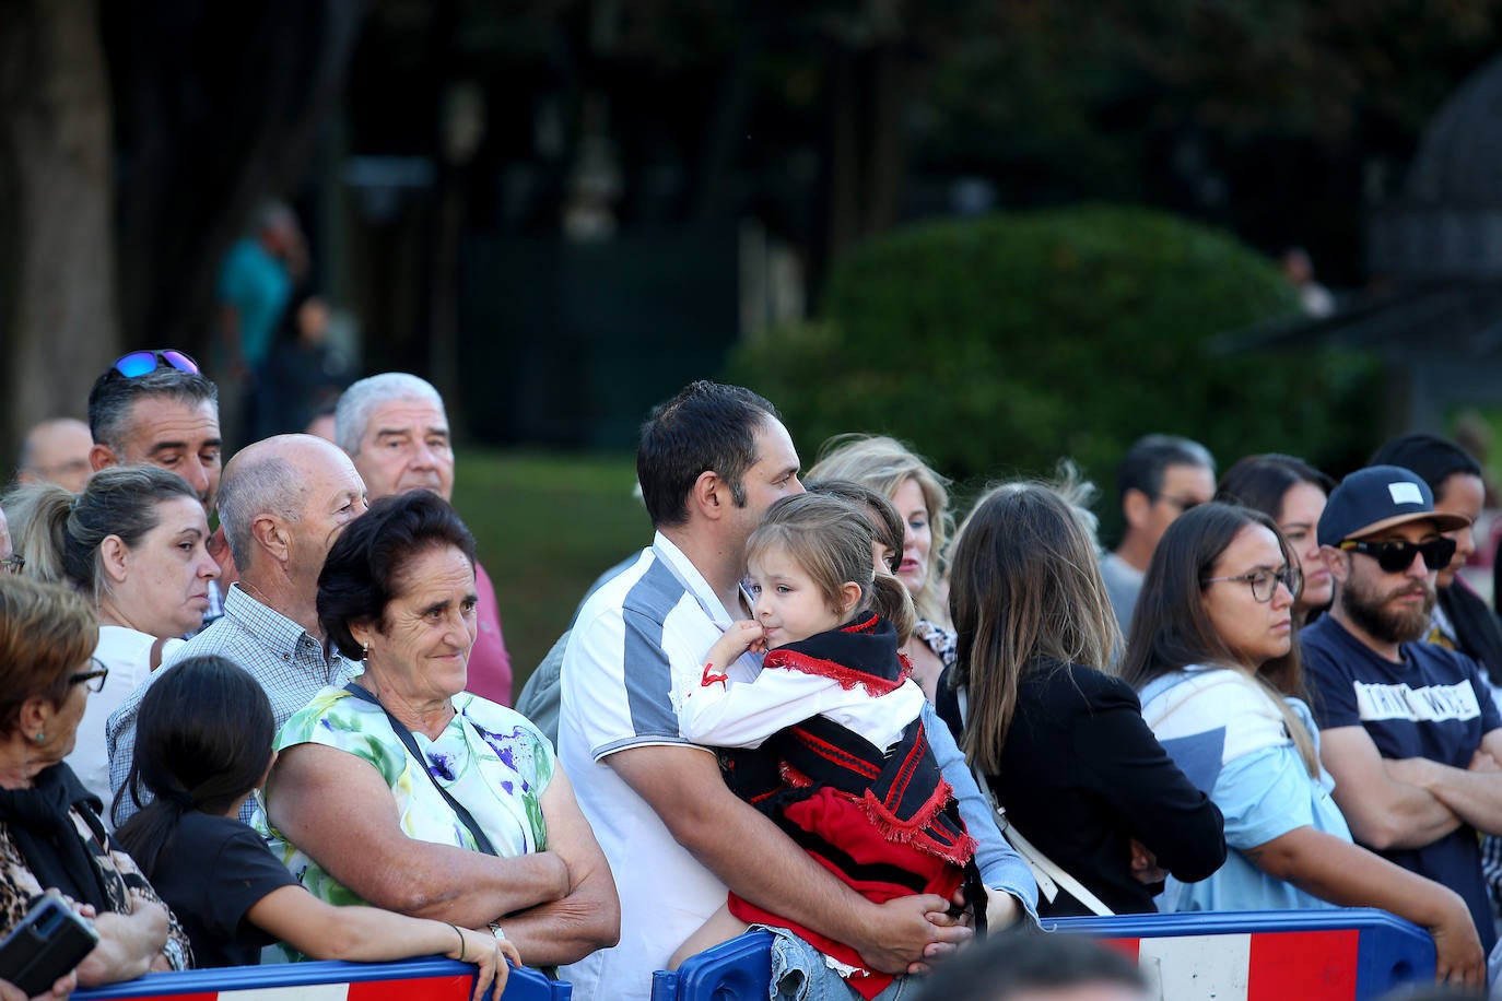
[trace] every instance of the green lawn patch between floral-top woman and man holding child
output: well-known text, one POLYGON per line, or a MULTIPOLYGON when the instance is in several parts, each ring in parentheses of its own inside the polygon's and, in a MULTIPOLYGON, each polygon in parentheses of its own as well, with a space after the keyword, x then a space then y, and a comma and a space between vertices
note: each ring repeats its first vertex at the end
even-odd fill
POLYGON ((632 455, 461 449, 454 507, 496 584, 515 690, 595 578, 652 542, 632 455))

